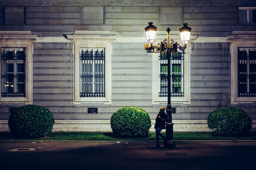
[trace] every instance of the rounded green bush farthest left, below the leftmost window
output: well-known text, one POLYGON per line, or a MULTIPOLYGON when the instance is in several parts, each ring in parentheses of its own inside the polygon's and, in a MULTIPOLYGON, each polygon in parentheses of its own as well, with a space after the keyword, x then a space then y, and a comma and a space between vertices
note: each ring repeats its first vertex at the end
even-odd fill
POLYGON ((52 113, 45 107, 26 105, 17 108, 9 116, 10 132, 21 137, 40 137, 52 132, 52 113))

